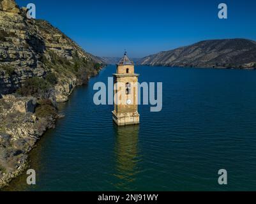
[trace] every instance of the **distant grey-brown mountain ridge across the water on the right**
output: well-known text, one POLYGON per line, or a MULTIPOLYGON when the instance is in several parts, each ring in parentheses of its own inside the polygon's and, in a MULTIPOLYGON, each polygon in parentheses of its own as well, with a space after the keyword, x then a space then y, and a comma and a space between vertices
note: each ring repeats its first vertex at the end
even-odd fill
POLYGON ((149 66, 256 68, 256 42, 246 39, 205 40, 140 59, 149 66))

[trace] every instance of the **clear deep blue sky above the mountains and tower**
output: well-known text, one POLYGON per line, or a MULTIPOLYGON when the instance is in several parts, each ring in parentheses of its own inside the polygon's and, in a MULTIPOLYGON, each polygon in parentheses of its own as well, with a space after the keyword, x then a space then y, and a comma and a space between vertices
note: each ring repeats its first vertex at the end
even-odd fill
POLYGON ((200 40, 256 40, 253 0, 17 0, 36 4, 36 18, 48 20, 87 52, 144 57, 200 40), (228 19, 218 18, 227 3, 228 19))

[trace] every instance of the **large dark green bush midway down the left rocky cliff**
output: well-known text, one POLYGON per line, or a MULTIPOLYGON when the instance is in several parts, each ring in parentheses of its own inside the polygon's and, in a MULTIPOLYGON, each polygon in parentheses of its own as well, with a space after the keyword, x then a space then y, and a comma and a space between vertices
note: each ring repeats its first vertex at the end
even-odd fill
POLYGON ((41 97, 50 89, 50 83, 39 77, 28 78, 17 93, 22 96, 41 97))

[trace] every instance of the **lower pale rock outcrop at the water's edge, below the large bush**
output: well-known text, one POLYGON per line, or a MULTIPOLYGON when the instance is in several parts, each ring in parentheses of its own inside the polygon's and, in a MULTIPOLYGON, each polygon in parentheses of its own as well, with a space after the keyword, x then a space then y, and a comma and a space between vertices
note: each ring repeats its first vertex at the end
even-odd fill
POLYGON ((0 188, 22 173, 28 152, 47 129, 54 128, 54 115, 38 117, 35 107, 31 97, 0 99, 0 188))

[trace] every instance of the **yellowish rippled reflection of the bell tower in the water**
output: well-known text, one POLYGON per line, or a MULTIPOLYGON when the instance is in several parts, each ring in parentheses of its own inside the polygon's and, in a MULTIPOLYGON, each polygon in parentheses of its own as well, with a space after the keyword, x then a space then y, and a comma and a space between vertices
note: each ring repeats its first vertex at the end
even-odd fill
POLYGON ((135 190, 136 178, 139 170, 139 162, 142 159, 139 150, 139 126, 117 127, 116 131, 116 168, 114 186, 120 190, 135 190))

